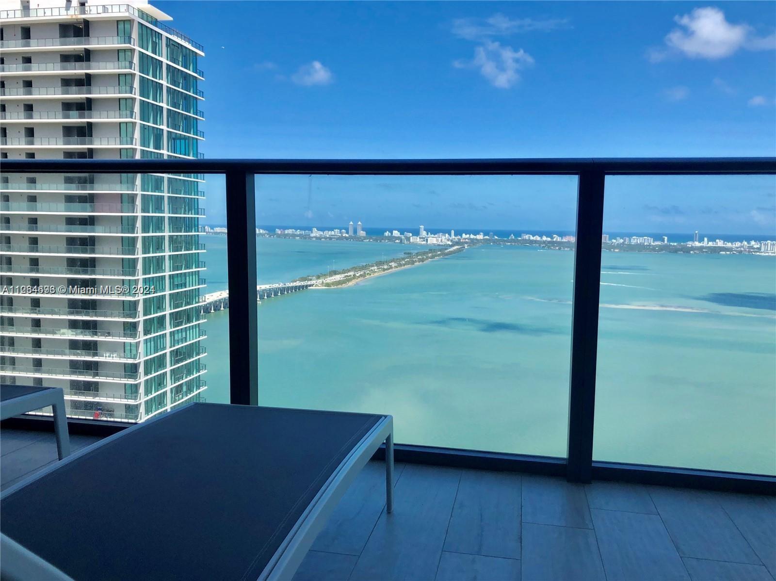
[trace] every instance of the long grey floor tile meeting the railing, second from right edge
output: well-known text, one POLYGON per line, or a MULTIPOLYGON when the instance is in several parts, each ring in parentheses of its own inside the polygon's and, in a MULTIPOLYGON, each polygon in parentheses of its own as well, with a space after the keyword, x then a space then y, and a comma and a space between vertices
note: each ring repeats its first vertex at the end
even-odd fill
POLYGON ((650 495, 682 557, 762 564, 717 495, 662 486, 651 487, 650 495))

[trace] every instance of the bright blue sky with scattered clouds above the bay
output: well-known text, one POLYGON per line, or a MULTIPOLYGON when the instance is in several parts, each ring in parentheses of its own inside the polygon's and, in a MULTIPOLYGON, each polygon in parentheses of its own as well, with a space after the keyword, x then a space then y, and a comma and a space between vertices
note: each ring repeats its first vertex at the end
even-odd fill
MULTIPOLYGON (((207 157, 776 154, 774 2, 155 4, 205 45, 207 157)), ((747 179, 735 200, 716 178, 693 202, 677 180, 631 178, 640 203, 621 221, 719 232, 713 216, 734 206, 736 231, 776 231, 772 180, 747 179)), ((207 189, 209 221, 223 222, 220 188, 207 189)), ((515 219, 530 222, 534 206, 515 219)), ((428 209, 478 220, 459 210, 428 209)), ((281 201, 267 217, 295 213, 328 211, 281 201)))

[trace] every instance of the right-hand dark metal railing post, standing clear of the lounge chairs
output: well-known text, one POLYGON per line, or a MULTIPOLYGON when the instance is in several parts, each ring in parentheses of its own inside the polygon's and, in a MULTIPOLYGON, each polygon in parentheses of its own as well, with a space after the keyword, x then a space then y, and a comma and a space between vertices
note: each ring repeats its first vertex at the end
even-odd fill
POLYGON ((590 482, 593 465, 604 182, 603 169, 591 168, 580 172, 577 193, 577 247, 574 253, 569 445, 566 464, 566 479, 570 482, 590 482))

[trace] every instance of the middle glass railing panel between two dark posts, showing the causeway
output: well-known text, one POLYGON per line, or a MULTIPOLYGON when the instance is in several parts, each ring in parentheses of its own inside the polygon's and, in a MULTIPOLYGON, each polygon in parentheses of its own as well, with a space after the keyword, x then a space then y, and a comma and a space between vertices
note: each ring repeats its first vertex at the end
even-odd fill
POLYGON ((259 403, 566 455, 576 177, 256 182, 259 403))

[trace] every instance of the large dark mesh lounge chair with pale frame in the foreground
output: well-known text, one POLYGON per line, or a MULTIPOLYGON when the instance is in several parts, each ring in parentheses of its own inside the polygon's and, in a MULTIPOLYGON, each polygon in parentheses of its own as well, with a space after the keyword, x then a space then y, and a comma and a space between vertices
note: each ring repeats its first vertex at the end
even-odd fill
POLYGON ((386 442, 364 413, 192 403, 0 498, 3 579, 290 579, 386 442))

